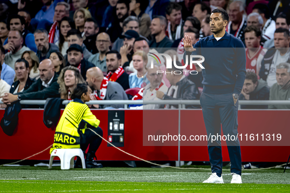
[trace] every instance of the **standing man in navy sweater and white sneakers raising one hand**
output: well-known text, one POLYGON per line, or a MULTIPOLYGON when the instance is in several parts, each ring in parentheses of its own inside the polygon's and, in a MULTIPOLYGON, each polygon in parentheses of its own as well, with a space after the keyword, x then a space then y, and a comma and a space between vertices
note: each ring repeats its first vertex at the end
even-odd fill
POLYGON ((237 109, 238 96, 246 76, 246 53, 243 43, 225 31, 228 21, 229 15, 225 10, 214 9, 210 17, 213 34, 199 40, 194 46, 191 38, 185 36, 184 39, 186 50, 184 61, 190 54, 202 55, 205 58, 202 63, 204 88, 200 104, 207 129, 212 174, 203 183, 223 183, 221 137, 219 137, 221 124, 224 135, 222 139, 227 137, 226 143, 231 160, 233 176, 231 183, 242 183, 237 109))

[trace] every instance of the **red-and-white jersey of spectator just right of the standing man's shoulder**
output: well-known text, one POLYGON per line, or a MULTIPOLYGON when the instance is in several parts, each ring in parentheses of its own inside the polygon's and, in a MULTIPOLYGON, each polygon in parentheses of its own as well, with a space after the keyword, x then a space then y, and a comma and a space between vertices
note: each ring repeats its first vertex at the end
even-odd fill
POLYGON ((254 72, 259 76, 259 71, 261 68, 261 62, 264 58, 267 49, 263 48, 262 46, 254 53, 252 57, 249 56, 248 48, 246 48, 246 70, 247 72, 254 72))

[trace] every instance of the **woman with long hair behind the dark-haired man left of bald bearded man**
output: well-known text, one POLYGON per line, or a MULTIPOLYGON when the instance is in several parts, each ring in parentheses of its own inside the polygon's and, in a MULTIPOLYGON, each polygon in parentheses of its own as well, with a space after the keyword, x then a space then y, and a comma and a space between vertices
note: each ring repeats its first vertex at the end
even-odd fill
POLYGON ((39 59, 34 51, 25 51, 23 52, 21 58, 25 59, 29 63, 29 77, 30 78, 39 78, 39 59))

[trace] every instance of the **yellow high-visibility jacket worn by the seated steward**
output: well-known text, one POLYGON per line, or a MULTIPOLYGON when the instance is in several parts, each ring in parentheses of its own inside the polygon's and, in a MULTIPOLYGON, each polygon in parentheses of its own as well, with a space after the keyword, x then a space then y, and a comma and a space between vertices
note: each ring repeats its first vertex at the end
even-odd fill
POLYGON ((55 130, 50 153, 54 149, 80 148, 79 134, 84 134, 86 128, 98 127, 99 124, 100 121, 92 114, 89 107, 76 98, 63 111, 55 130))

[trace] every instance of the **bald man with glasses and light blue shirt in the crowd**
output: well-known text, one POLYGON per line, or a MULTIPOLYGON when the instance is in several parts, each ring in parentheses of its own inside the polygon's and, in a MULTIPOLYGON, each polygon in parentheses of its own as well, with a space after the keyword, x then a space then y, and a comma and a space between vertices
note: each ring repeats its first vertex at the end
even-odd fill
POLYGON ((99 52, 90 56, 88 59, 89 62, 96 65, 96 67, 100 68, 103 71, 104 75, 106 75, 107 73, 105 53, 110 50, 109 48, 110 45, 111 45, 110 36, 105 32, 100 33, 96 39, 96 46, 99 52))

